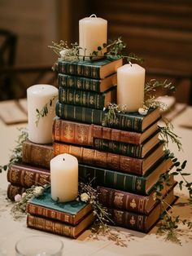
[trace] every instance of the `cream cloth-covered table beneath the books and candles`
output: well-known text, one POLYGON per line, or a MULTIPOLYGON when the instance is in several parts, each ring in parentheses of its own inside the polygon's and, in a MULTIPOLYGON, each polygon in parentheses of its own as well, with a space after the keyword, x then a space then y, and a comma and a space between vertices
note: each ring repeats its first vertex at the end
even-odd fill
MULTIPOLYGON (((192 107, 185 109, 173 121, 175 132, 182 137, 183 152, 178 152, 177 147, 170 143, 169 148, 175 153, 181 161, 185 159, 188 161, 186 172, 192 170, 192 129, 185 129, 181 127, 184 121, 192 119, 192 107)), ((192 120, 191 120, 192 122, 192 120)), ((15 140, 19 135, 17 127, 25 127, 27 124, 6 126, 0 121, 0 165, 7 164, 9 160, 10 149, 14 147, 15 140)), ((176 176, 179 181, 179 177, 176 176)), ((191 180, 191 178, 190 178, 191 180)), ((11 214, 12 203, 6 200, 7 196, 7 174, 3 172, 0 174, 0 256, 13 256, 15 254, 15 242, 20 238, 29 235, 46 235, 55 236, 63 241, 64 252, 63 255, 131 255, 131 256, 190 256, 192 252, 192 231, 186 227, 181 226, 181 245, 173 244, 172 242, 164 241, 163 237, 156 236, 156 227, 154 227, 148 234, 140 232, 133 232, 124 228, 117 229, 120 231, 120 236, 126 241, 127 247, 120 247, 115 245, 114 241, 108 241, 106 237, 100 237, 99 241, 94 241, 89 238, 89 231, 84 232, 77 240, 69 239, 68 237, 57 236, 46 232, 30 229, 26 227, 25 218, 20 221, 15 221, 11 214)), ((182 191, 176 189, 176 194, 180 196, 176 205, 173 206, 173 213, 179 214, 181 218, 187 218, 192 221, 192 205, 189 205, 187 190, 182 191), (182 206, 182 207, 181 207, 182 206)), ((114 230, 115 227, 111 227, 114 230)))

